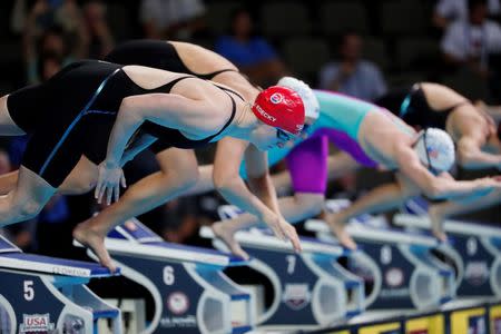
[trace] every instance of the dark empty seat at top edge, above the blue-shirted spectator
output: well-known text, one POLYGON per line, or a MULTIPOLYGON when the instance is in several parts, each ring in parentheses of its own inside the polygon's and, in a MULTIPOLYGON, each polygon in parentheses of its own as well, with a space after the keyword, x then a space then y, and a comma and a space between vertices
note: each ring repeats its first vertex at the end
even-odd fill
POLYGON ((232 13, 245 4, 244 1, 213 1, 207 3, 205 20, 215 35, 226 33, 229 29, 232 13))

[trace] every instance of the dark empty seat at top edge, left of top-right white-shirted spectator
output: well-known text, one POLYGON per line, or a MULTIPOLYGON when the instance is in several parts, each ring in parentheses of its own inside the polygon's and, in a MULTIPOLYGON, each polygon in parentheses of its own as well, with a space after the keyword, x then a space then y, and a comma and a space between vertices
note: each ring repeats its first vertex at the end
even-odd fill
POLYGON ((380 6, 384 36, 424 35, 429 18, 421 0, 386 0, 380 6))

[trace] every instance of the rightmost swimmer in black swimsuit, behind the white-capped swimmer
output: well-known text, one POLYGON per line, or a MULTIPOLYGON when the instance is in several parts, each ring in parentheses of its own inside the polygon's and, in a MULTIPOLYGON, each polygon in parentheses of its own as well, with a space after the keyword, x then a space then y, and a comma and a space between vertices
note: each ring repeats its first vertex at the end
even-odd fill
POLYGON ((376 104, 419 128, 448 131, 458 146, 458 164, 466 169, 501 169, 501 141, 494 119, 454 90, 431 82, 390 92, 376 104), (474 125, 474 126, 472 126, 474 125))

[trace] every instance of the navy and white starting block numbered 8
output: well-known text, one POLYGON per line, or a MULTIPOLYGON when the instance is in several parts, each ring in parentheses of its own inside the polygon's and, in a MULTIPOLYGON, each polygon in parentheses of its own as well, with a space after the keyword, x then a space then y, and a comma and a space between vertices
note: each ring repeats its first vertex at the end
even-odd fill
MULTIPOLYGON (((337 242, 322 220, 311 219, 306 228, 337 242)), ((431 254, 434 238, 362 224, 350 224, 347 232, 363 250, 350 255, 350 266, 373 279, 367 310, 429 310, 454 297, 454 272, 431 254)))

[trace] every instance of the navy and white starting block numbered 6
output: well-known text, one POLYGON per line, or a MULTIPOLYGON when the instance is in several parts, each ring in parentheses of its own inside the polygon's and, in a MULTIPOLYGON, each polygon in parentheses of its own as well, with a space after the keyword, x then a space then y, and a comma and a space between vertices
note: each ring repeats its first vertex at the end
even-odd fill
POLYGON ((227 266, 245 264, 240 258, 166 243, 137 219, 115 228, 105 244, 122 275, 143 285, 154 298, 154 318, 144 333, 252 330, 250 294, 223 273, 227 266))

